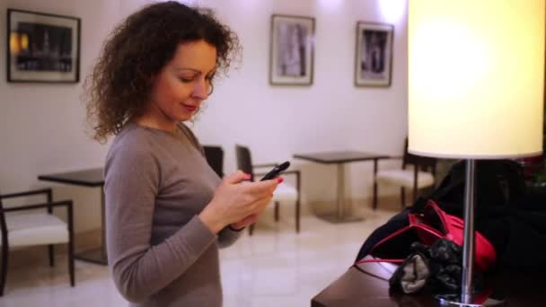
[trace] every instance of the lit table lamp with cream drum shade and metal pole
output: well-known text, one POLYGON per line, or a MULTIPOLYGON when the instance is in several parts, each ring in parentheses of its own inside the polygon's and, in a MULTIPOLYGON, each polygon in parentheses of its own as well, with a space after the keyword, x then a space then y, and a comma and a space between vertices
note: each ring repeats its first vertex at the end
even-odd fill
POLYGON ((475 306, 475 160, 542 153, 545 9, 544 0, 409 3, 409 151, 467 160, 458 305, 475 306))

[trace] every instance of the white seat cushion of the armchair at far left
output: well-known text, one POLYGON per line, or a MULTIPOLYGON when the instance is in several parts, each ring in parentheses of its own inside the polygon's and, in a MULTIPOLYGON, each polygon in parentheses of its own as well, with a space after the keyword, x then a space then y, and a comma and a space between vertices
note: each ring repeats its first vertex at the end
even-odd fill
POLYGON ((46 213, 5 215, 5 222, 10 248, 68 241, 68 227, 55 215, 46 213))

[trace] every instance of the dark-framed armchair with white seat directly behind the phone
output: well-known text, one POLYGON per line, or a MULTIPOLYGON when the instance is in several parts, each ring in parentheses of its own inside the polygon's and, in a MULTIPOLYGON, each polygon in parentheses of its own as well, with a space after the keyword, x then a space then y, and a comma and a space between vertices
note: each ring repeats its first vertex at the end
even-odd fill
MULTIPOLYGON (((254 181, 254 176, 265 175, 269 169, 275 167, 277 163, 269 164, 255 164, 252 165, 251 151, 246 146, 235 145, 235 152, 237 154, 237 167, 251 175, 251 181, 254 181), (266 169, 263 173, 254 173, 254 169, 266 169)), ((283 175, 294 174, 295 175, 295 188, 281 183, 277 186, 275 193, 273 193, 273 201, 275 202, 275 222, 278 222, 279 216, 279 203, 285 201, 295 202, 295 232, 300 232, 300 171, 284 171, 283 175)), ((254 224, 249 227, 249 234, 254 232, 254 224)))

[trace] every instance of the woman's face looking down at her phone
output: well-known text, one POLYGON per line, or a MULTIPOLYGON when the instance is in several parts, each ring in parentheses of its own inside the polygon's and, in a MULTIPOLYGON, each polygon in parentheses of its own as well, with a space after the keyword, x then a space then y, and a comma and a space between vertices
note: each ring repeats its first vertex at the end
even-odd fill
POLYGON ((157 75, 145 115, 163 124, 189 120, 212 90, 216 48, 205 40, 180 44, 157 75))

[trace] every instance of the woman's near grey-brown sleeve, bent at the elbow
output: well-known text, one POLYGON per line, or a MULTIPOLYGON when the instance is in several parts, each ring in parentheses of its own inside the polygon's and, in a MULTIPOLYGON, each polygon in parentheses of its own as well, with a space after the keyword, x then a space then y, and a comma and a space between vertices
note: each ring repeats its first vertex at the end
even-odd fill
POLYGON ((123 146, 114 149, 106 163, 108 258, 115 285, 131 302, 145 300, 172 283, 216 241, 193 215, 180 230, 151 245, 161 171, 151 152, 123 146))

